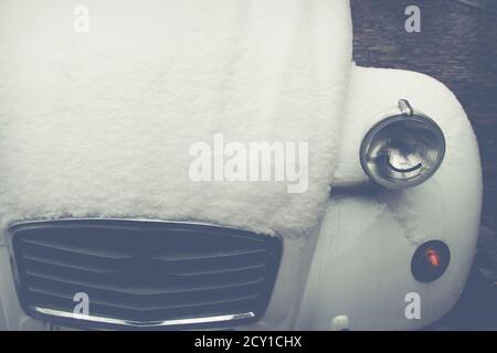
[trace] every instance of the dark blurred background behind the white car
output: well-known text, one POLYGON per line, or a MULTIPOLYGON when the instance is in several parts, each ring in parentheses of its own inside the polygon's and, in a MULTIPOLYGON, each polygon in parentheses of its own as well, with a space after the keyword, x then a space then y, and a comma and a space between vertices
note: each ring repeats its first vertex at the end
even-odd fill
POLYGON ((359 65, 431 75, 454 92, 469 117, 484 174, 478 253, 462 299, 430 329, 497 330, 497 0, 351 0, 351 4, 353 58, 359 65), (405 8, 413 4, 421 10, 420 33, 404 30, 405 8))

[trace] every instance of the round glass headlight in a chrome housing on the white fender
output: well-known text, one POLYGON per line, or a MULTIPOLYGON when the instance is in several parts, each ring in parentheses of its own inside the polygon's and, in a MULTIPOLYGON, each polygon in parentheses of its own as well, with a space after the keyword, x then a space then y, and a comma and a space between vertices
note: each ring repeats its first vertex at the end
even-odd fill
POLYGON ((401 114, 378 122, 360 150, 364 172, 388 189, 419 185, 432 176, 445 156, 445 139, 435 121, 414 113, 406 100, 401 114))

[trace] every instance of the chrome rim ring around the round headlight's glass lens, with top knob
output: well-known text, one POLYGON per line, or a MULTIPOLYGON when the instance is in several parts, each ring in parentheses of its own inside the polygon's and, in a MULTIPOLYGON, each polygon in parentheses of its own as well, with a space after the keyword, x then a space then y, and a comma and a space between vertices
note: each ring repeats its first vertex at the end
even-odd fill
MULTIPOLYGON (((446 152, 446 141, 445 136, 440 128, 440 126, 430 117, 426 115, 414 111, 411 106, 409 105, 409 101, 406 100, 400 100, 399 101, 399 108, 401 109, 401 113, 391 113, 389 115, 385 115, 383 118, 380 119, 379 122, 372 126, 371 129, 366 133, 364 138, 362 139, 360 152, 359 152, 359 159, 362 167, 362 170, 366 172, 366 174, 369 176, 369 179, 374 182, 376 184, 379 184, 385 189, 391 190, 399 190, 404 188, 412 188, 420 185, 427 181, 430 178, 433 176, 433 174, 436 173, 436 171, 442 165, 442 162, 445 158, 446 152), (435 162, 430 165, 429 169, 425 169, 422 173, 419 175, 415 175, 413 178, 406 178, 406 179, 385 179, 379 176, 378 173, 376 173, 371 169, 371 164, 374 164, 376 161, 369 160, 369 152, 371 149, 371 145, 379 136, 380 132, 383 132, 385 128, 389 128, 390 126, 394 124, 405 124, 405 130, 409 128, 412 128, 413 126, 417 125, 419 129, 424 129, 432 133, 433 142, 436 143, 436 152, 437 158, 435 162), (409 127, 411 126, 411 127, 409 127)), ((402 171, 404 173, 405 170, 402 171)))

